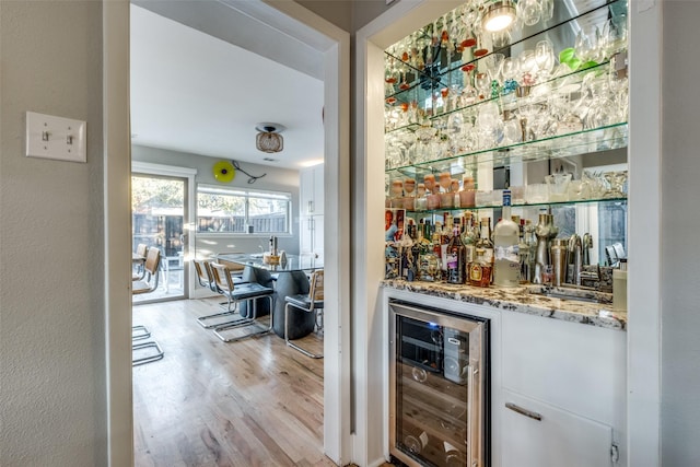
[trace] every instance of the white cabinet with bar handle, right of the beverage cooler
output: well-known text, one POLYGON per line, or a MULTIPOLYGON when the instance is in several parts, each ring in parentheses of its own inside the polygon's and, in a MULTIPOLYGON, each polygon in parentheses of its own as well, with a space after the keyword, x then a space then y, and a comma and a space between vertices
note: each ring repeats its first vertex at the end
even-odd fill
POLYGON ((611 452, 625 444, 626 334, 520 313, 503 313, 501 325, 493 413, 502 466, 615 465, 611 452))

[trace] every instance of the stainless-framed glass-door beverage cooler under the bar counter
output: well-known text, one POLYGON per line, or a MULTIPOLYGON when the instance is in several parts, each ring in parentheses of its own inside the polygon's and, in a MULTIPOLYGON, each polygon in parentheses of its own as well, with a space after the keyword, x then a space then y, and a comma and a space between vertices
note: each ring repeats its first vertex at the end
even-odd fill
POLYGON ((390 301, 389 346, 392 456, 409 466, 488 466, 488 319, 390 301))

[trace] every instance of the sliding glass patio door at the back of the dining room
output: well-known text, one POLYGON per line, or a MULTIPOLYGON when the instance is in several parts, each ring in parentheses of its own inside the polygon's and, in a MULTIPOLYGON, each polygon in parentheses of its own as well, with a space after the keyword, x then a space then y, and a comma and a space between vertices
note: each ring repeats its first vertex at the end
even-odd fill
MULTIPOLYGON (((135 304, 187 297, 186 220, 187 178, 131 175, 133 250, 137 245, 145 245, 147 248, 159 248, 163 255, 158 288, 148 294, 133 295, 135 304)), ((135 267, 138 269, 139 265, 135 267)))

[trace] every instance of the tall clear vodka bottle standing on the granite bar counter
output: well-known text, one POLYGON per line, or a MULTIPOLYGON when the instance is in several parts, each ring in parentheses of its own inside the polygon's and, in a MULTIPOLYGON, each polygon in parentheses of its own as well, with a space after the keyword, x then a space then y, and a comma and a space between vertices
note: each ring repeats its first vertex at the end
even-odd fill
POLYGON ((493 285, 517 287, 520 225, 511 220, 511 190, 503 190, 503 218, 493 227, 493 285))

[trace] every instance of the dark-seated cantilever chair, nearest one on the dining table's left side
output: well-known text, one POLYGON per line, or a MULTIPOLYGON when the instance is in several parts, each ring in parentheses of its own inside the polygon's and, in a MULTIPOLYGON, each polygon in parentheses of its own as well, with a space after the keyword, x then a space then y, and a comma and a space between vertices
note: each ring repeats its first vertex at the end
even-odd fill
POLYGON ((272 330, 272 316, 270 313, 270 324, 268 327, 264 329, 259 329, 260 324, 257 322, 257 301, 258 299, 268 299, 270 301, 270 310, 273 308, 275 305, 275 289, 260 285, 255 282, 247 282, 242 284, 234 284, 233 279, 231 278, 231 272, 229 267, 224 265, 220 265, 218 262, 210 262, 211 272, 213 275, 217 287, 221 289, 221 292, 229 299, 229 303, 226 310, 232 312, 235 310, 235 306, 241 302, 249 302, 253 304, 253 312, 245 319, 242 319, 238 323, 225 324, 222 326, 214 327, 214 334, 217 337, 224 342, 233 342, 236 340, 245 339, 252 336, 258 336, 262 334, 267 334, 272 330), (232 306, 234 308, 232 310, 232 306), (252 330, 247 334, 236 335, 234 337, 225 337, 221 334, 221 331, 228 329, 234 329, 240 327, 247 326, 257 326, 257 330, 252 330))

